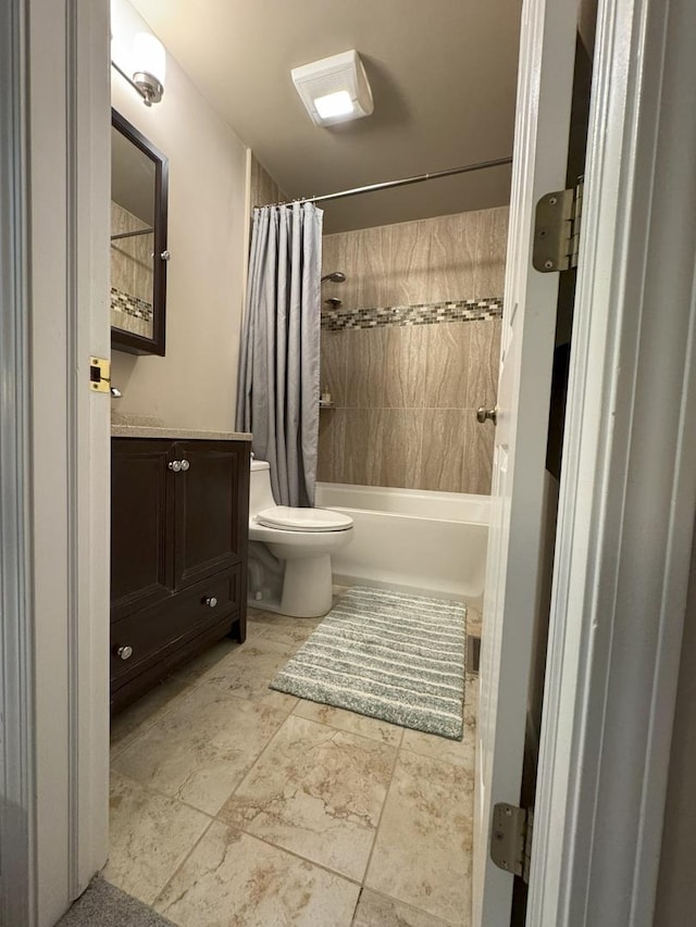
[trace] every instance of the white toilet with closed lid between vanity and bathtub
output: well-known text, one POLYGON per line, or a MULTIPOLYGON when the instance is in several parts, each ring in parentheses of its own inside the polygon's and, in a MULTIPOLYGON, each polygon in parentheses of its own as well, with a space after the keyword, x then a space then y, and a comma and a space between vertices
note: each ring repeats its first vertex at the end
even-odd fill
POLYGON ((270 465, 251 461, 249 604, 298 618, 332 606, 331 555, 352 538, 352 518, 330 509, 276 505, 270 465))

